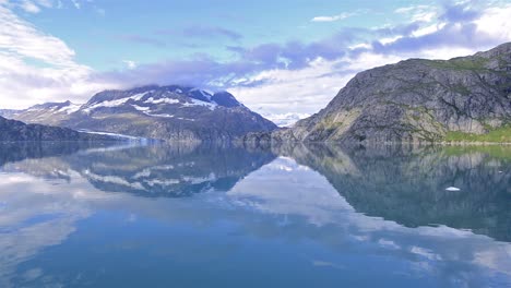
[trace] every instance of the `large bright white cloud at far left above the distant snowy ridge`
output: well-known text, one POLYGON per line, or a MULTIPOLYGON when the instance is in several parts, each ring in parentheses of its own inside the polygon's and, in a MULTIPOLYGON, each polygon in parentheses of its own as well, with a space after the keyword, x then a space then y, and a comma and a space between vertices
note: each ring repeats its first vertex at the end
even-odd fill
POLYGON ((64 41, 41 33, 0 5, 1 108, 26 108, 49 100, 84 101, 107 83, 91 81, 93 70, 74 60, 64 41))

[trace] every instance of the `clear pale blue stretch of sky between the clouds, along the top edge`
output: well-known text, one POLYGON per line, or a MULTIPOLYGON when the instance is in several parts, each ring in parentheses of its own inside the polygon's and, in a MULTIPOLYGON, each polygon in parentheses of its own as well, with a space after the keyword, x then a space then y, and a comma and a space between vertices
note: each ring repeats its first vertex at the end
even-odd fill
MULTIPOLYGON (((389 23, 384 13, 346 17, 325 25, 317 15, 360 13, 373 10, 364 1, 83 1, 75 9, 21 15, 76 51, 76 61, 97 70, 119 69, 124 59, 153 63, 162 59, 192 59, 207 55, 228 60, 228 47, 253 47, 289 40, 313 41, 342 27, 367 27, 389 23), (337 2, 337 3, 336 3, 337 2), (271 9, 269 9, 271 8, 271 9)), ((384 5, 393 11, 403 1, 384 5)), ((22 9, 23 10, 23 9, 22 9)), ((375 11, 378 12, 378 11, 375 11)), ((383 11, 381 11, 383 12, 383 11)), ((403 20, 404 15, 396 15, 403 20)), ((394 19, 393 21, 400 21, 394 19)))

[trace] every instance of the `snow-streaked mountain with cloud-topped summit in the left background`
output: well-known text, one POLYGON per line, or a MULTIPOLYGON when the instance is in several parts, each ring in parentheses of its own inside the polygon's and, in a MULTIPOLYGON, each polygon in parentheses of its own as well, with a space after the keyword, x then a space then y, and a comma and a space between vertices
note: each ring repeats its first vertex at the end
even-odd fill
POLYGON ((177 85, 104 91, 84 105, 49 103, 8 112, 31 123, 173 141, 228 141, 276 129, 227 92, 177 85))

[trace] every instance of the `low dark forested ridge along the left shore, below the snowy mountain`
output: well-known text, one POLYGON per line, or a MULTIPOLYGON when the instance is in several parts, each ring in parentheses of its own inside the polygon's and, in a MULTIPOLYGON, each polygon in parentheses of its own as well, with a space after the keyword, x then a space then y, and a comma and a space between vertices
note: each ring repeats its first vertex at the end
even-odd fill
POLYGON ((25 124, 0 117, 0 141, 92 141, 112 140, 106 135, 80 133, 69 128, 25 124))

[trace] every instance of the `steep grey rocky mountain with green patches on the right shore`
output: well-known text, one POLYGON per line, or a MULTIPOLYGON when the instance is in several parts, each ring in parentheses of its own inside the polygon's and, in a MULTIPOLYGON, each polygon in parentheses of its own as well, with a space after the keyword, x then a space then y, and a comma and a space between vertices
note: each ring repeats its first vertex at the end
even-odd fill
POLYGON ((276 142, 511 142, 511 43, 450 60, 358 73, 318 113, 250 134, 276 142))

